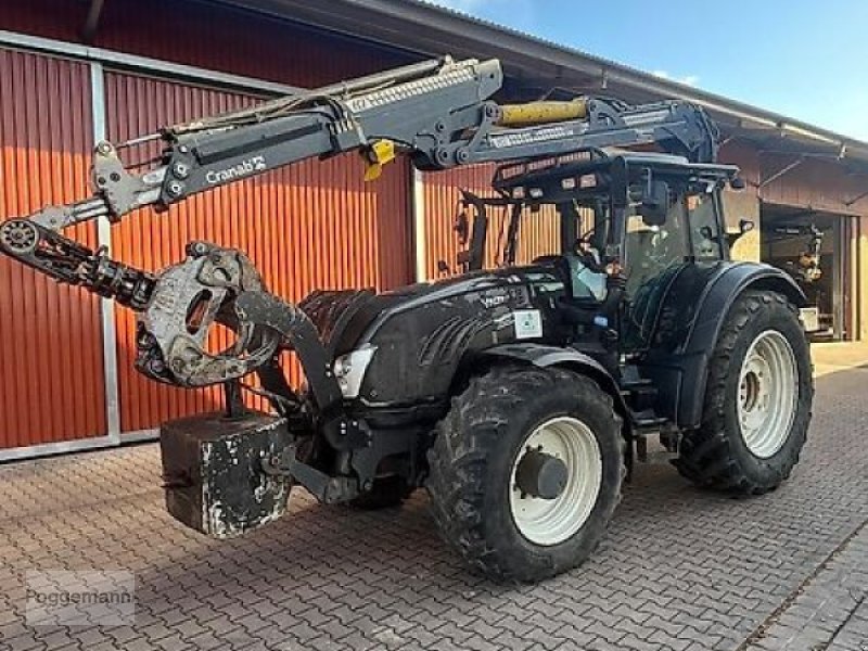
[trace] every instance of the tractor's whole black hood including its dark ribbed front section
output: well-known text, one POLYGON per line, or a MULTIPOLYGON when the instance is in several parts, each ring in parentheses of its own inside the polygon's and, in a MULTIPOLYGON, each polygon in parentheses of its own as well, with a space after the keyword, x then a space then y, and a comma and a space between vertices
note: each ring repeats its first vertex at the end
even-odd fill
POLYGON ((563 282, 546 266, 477 271, 374 294, 317 292, 299 307, 332 358, 373 349, 358 398, 406 406, 447 395, 468 356, 554 336, 546 318, 563 282))

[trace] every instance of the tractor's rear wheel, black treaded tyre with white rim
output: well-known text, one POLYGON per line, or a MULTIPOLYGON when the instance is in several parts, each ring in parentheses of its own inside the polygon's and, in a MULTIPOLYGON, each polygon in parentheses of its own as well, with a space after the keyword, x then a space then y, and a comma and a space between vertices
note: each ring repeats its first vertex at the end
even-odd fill
POLYGON ((748 291, 726 317, 709 366, 701 426, 682 436, 678 471, 703 486, 760 495, 790 476, 814 398, 796 308, 748 291))

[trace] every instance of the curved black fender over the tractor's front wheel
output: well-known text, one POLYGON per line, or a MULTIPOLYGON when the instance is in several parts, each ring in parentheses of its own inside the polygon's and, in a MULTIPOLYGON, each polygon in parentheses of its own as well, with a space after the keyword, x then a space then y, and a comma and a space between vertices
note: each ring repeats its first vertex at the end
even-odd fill
POLYGON ((476 359, 520 361, 523 363, 532 363, 540 368, 558 367, 587 375, 593 380, 600 388, 612 396, 614 409, 623 419, 624 434, 627 437, 631 435, 630 412, 627 408, 627 404, 624 401, 624 396, 621 395, 621 388, 617 382, 603 365, 589 355, 573 348, 526 343, 494 346, 493 348, 481 352, 476 356, 476 359))

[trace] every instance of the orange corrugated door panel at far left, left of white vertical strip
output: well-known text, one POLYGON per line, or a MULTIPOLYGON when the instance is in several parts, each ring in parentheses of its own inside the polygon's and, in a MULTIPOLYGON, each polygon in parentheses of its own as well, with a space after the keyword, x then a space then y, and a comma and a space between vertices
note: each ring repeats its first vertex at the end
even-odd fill
MULTIPOLYGON (((0 219, 87 192, 86 64, 0 49, 0 219)), ((93 225, 72 237, 95 244, 93 225)), ((0 447, 105 433, 99 302, 0 258, 0 447)))

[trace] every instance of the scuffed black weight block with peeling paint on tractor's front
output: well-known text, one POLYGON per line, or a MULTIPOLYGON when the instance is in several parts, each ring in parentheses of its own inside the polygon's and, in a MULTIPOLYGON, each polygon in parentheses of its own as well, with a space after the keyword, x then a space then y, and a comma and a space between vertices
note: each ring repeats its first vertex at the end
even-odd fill
POLYGON ((197 414, 163 424, 159 447, 166 507, 189 527, 230 538, 285 513, 288 476, 266 474, 261 459, 291 443, 285 419, 197 414))

